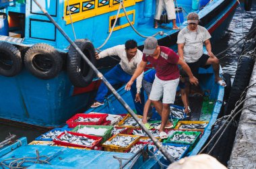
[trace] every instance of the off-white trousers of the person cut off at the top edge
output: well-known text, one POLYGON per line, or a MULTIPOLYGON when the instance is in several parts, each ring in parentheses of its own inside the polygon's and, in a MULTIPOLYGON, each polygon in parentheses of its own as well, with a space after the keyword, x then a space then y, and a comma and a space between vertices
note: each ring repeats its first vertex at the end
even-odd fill
POLYGON ((176 19, 175 7, 173 0, 156 0, 156 14, 154 19, 160 20, 162 11, 167 12, 168 20, 176 19))

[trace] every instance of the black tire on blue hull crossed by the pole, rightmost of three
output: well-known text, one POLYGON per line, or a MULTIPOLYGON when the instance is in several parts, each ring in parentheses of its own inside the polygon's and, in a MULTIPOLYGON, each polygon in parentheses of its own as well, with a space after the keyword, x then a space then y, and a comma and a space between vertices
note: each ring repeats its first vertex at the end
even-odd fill
MULTIPOLYGON (((75 44, 82 50, 86 57, 96 64, 95 49, 89 40, 75 40, 75 44)), ((78 52, 70 46, 67 57, 67 74, 75 87, 87 87, 94 78, 94 71, 78 52)))

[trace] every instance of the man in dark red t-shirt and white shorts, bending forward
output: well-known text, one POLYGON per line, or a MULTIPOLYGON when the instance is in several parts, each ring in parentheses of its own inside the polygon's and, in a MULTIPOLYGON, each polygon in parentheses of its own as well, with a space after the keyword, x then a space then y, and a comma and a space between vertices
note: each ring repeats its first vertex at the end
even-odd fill
POLYGON ((170 48, 158 46, 158 41, 154 37, 147 38, 144 42, 144 50, 142 60, 137 66, 131 80, 127 83, 125 89, 130 90, 134 80, 146 68, 147 62, 150 62, 156 69, 156 78, 154 80, 150 100, 156 107, 159 115, 162 117, 161 125, 156 127, 160 131, 161 139, 167 137, 164 128, 171 128, 172 123, 168 120, 170 115, 170 104, 174 103, 177 86, 179 84, 179 68, 180 64, 189 76, 191 84, 198 84, 197 78, 193 76, 186 62, 181 60, 179 56, 170 48), (162 103, 160 102, 162 99, 162 103))

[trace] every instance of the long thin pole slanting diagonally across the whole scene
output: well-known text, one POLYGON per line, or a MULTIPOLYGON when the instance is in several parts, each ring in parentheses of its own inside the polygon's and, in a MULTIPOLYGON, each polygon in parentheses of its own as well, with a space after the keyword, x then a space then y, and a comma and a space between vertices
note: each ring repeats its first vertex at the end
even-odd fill
POLYGON ((162 144, 160 144, 160 142, 158 142, 158 139, 156 139, 156 137, 154 137, 152 135, 152 133, 150 133, 150 131, 145 127, 145 125, 139 121, 139 118, 137 117, 137 115, 133 112, 133 110, 131 109, 131 107, 129 107, 129 105, 127 105, 127 103, 125 103, 125 101, 123 100, 123 98, 119 95, 119 93, 117 93, 117 91, 111 86, 111 84, 108 82, 108 80, 106 80, 106 78, 104 78, 104 76, 102 75, 101 72, 98 71, 98 69, 94 66, 94 64, 92 64, 92 62, 90 62, 90 60, 84 55, 84 53, 82 52, 82 50, 80 50, 78 48, 78 46, 69 38, 69 36, 67 36, 67 34, 61 29, 61 27, 55 22, 55 20, 53 19, 53 17, 51 17, 51 15, 49 15, 49 13, 42 8, 42 6, 38 3, 38 1, 33 0, 34 3, 36 3, 36 5, 38 5, 38 7, 42 10, 42 12, 51 20, 51 22, 57 27, 57 29, 59 30, 59 32, 61 32, 61 34, 63 34, 63 36, 66 38, 66 40, 71 44, 71 46, 73 46, 73 48, 75 48, 75 50, 82 56, 82 58, 84 58, 84 60, 86 60, 86 62, 89 64, 89 66, 92 68, 92 70, 94 70, 94 72, 96 72, 96 75, 98 76, 98 78, 100 78, 105 84, 106 87, 108 87, 108 89, 113 93, 113 95, 115 95, 115 97, 117 98, 117 100, 119 100, 119 102, 123 105, 123 107, 125 107, 125 109, 128 111, 128 113, 133 117, 133 119, 135 119, 135 121, 139 124, 139 126, 141 127, 141 129, 143 129, 143 131, 145 131, 147 133, 147 135, 150 137, 150 139, 152 139, 152 141, 154 142, 154 144, 156 145, 156 147, 158 148, 158 150, 160 150, 160 152, 162 152, 162 154, 170 161, 170 162, 174 162, 174 158, 172 158, 172 156, 170 156, 170 154, 167 153, 166 149, 162 146, 162 144))

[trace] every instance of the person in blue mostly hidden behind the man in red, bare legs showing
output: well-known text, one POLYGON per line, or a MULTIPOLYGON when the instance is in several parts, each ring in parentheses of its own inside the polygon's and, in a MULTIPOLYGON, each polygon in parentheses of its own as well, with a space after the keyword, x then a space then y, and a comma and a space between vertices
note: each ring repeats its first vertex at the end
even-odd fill
MULTIPOLYGON (((180 70, 180 81, 179 81, 179 87, 181 89, 181 100, 183 101, 183 105, 185 107, 184 109, 184 113, 187 114, 187 116, 189 115, 189 113, 191 112, 191 109, 189 108, 189 101, 187 99, 187 93, 185 92, 185 78, 187 76, 187 74, 184 74, 184 70, 181 69, 180 70)), ((154 82, 156 76, 156 70, 151 70, 150 72, 148 72, 148 74, 144 75, 143 80, 142 80, 142 86, 144 91, 146 92, 146 94, 148 95, 148 100, 146 101, 145 105, 144 105, 144 110, 143 110, 143 119, 142 122, 144 123, 144 125, 150 129, 150 124, 148 123, 148 117, 151 117, 152 115, 148 115, 148 114, 152 114, 150 108, 151 107, 151 101, 150 101, 150 92, 152 89, 152 84, 154 82)))

